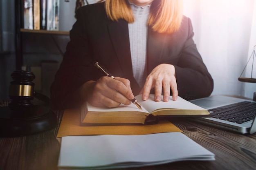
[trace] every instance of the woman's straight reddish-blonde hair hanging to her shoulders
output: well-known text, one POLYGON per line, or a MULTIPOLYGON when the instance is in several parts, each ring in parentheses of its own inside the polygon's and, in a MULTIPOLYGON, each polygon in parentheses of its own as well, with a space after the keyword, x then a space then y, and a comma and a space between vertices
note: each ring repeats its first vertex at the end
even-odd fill
MULTIPOLYGON (((128 0, 105 1, 108 18, 112 21, 124 19, 134 22, 134 16, 128 0)), ((159 33, 173 33, 180 28, 182 21, 182 0, 153 0, 150 7, 148 26, 159 33)))

